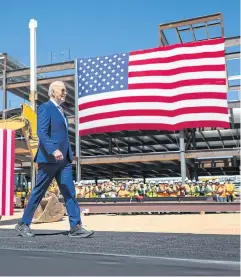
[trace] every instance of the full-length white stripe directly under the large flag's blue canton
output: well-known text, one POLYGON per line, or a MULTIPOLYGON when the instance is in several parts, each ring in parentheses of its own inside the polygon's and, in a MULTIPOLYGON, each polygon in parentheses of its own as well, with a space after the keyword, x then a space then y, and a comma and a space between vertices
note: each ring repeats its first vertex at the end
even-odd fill
POLYGON ((131 97, 131 96, 176 96, 180 94, 194 94, 199 92, 220 92, 227 93, 225 85, 198 85, 198 86, 186 86, 174 89, 130 89, 130 90, 118 90, 111 92, 98 93, 90 96, 81 97, 78 100, 79 105, 118 97, 131 97))

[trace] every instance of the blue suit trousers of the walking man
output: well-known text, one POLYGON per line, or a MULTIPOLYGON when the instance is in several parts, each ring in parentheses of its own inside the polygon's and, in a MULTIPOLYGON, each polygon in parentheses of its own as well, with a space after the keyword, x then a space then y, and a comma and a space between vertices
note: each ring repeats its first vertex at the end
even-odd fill
POLYGON ((69 216, 70 227, 81 224, 80 208, 75 197, 75 186, 72 175, 72 164, 66 159, 57 163, 39 163, 36 185, 24 210, 22 222, 30 225, 34 213, 45 195, 53 178, 56 178, 61 194, 64 197, 69 216))

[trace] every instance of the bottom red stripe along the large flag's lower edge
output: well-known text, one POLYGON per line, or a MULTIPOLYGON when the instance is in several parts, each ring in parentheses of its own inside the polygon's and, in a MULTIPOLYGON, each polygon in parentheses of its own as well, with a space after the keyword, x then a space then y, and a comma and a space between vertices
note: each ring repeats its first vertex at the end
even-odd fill
POLYGON ((87 136, 90 134, 101 134, 108 132, 119 132, 126 130, 167 130, 167 131, 178 131, 185 128, 203 128, 203 127, 214 127, 214 128, 230 128, 230 123, 223 121, 187 121, 178 123, 176 125, 169 124, 119 124, 112 126, 103 126, 91 129, 80 130, 80 136, 87 136))

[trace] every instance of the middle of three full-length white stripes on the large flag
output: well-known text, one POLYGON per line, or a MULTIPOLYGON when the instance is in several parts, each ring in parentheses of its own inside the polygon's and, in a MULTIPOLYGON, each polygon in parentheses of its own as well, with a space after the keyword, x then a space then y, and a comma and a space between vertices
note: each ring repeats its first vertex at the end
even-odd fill
POLYGON ((193 99, 193 100, 183 100, 174 103, 164 103, 164 102, 138 102, 138 103, 120 103, 105 105, 99 107, 93 107, 89 109, 84 109, 79 111, 79 117, 101 114, 105 112, 114 111, 127 111, 127 110, 165 110, 173 111, 181 108, 190 107, 227 107, 227 100, 217 100, 217 99, 193 99))

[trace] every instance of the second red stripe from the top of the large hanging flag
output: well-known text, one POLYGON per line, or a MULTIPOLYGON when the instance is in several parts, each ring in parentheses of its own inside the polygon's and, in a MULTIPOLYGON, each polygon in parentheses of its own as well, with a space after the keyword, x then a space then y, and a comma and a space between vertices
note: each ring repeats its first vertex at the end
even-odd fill
POLYGON ((205 58, 223 58, 223 57, 224 57, 224 50, 217 51, 217 52, 180 54, 180 55, 170 56, 170 57, 166 57, 166 58, 153 58, 153 59, 129 61, 129 66, 131 66, 131 65, 147 65, 147 64, 156 64, 156 63, 171 63, 171 62, 183 61, 183 60, 195 60, 195 59, 205 59, 205 58))

